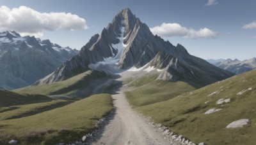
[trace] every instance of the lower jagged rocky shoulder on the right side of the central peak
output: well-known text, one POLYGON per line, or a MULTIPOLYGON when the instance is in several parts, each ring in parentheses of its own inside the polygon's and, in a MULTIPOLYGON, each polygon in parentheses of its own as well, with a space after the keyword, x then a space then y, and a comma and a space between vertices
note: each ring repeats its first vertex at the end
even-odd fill
POLYGON ((182 80, 196 83, 200 86, 220 81, 223 78, 227 78, 227 76, 232 76, 232 73, 214 67, 207 62, 205 63, 205 60, 189 55, 188 53, 186 53, 186 57, 183 59, 181 57, 177 59, 165 52, 159 52, 150 61, 149 65, 163 70, 157 79, 166 81, 182 80))

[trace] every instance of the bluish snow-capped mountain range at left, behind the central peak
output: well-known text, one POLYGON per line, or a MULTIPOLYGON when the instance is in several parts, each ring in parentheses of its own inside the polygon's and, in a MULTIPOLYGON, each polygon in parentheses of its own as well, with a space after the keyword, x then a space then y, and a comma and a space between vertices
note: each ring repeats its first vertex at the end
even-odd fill
POLYGON ((77 53, 49 40, 21 37, 15 31, 0 32, 0 88, 31 85, 77 53))

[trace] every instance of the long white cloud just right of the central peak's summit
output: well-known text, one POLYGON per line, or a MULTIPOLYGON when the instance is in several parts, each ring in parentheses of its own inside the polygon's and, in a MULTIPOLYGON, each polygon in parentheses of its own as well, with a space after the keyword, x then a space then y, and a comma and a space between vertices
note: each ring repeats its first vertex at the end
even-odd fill
POLYGON ((150 28, 150 31, 154 35, 159 36, 183 36, 184 38, 214 38, 218 35, 218 32, 211 31, 208 28, 201 28, 198 31, 194 29, 188 29, 186 27, 182 27, 180 24, 177 23, 163 23, 160 26, 157 25, 156 27, 150 28))

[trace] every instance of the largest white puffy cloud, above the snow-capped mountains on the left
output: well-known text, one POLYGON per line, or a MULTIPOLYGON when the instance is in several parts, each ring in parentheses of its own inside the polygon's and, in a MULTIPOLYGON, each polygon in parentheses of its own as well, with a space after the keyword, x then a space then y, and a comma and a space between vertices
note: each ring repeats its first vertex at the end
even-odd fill
POLYGON ((0 30, 17 31, 22 35, 42 36, 43 31, 88 29, 86 20, 71 13, 40 13, 26 6, 0 7, 0 30))

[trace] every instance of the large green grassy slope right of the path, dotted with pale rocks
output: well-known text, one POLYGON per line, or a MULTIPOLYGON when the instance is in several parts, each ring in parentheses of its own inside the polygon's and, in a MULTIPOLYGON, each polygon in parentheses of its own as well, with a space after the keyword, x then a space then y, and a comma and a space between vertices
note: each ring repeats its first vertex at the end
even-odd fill
MULTIPOLYGON (((152 116, 171 130, 192 141, 207 144, 255 144, 256 142, 256 71, 245 72, 230 79, 205 86, 173 99, 135 107, 137 111, 152 116), (240 93, 241 95, 239 95, 240 93), (243 93, 242 93, 243 92, 243 93), (226 104, 216 104, 219 99, 230 99, 226 104), (205 111, 218 108, 216 113, 205 111), (250 119, 243 128, 225 128, 232 121, 250 119)), ((161 87, 161 86, 159 86, 161 87)), ((128 93, 129 102, 143 95, 143 88, 128 93)), ((163 90, 164 92, 169 92, 163 90)), ((145 102, 147 98, 143 99, 145 102)), ((143 102, 140 100, 140 102, 143 102)))

